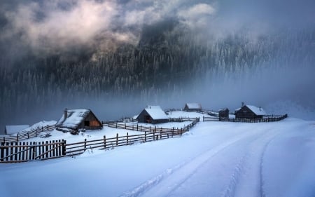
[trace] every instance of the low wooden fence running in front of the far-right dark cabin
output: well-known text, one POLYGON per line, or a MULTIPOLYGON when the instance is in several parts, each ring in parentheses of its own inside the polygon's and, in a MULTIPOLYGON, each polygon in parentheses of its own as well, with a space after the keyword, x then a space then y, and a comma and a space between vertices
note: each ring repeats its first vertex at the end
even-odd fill
MULTIPOLYGON (((264 118, 230 118, 226 121, 237 123, 269 123, 281 121, 284 118, 288 118, 288 114, 284 115, 266 115, 264 118)), ((220 118, 203 117, 203 121, 220 121, 220 118)))

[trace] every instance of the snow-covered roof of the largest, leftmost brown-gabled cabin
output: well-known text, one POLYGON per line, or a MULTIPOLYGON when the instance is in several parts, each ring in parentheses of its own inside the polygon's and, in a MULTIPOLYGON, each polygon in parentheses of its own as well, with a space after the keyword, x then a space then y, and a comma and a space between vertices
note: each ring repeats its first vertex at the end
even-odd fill
POLYGON ((89 113, 90 109, 68 109, 67 117, 65 118, 63 114, 59 121, 56 123, 56 126, 76 129, 89 113))

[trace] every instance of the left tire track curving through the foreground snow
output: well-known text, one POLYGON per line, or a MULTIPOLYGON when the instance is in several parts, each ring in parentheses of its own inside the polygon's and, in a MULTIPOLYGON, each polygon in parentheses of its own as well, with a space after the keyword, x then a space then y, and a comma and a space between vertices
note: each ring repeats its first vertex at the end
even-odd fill
POLYGON ((211 158, 216 156, 216 154, 221 151, 231 147, 233 144, 247 140, 248 137, 257 137, 258 134, 248 135, 248 133, 243 133, 237 137, 233 137, 228 142, 224 142, 215 147, 211 147, 206 151, 203 151, 202 154, 196 156, 195 158, 190 158, 188 161, 184 161, 179 165, 176 165, 174 168, 170 168, 162 172, 160 175, 153 177, 152 179, 147 180, 143 184, 135 187, 130 191, 125 191, 120 197, 136 197, 136 196, 167 196, 174 189, 178 188, 185 182, 189 177, 191 177, 200 166, 204 163, 207 163, 211 158), (176 174, 174 176, 171 176, 176 174), (167 179, 166 186, 158 186, 167 179), (157 188, 158 187, 158 188, 157 188))

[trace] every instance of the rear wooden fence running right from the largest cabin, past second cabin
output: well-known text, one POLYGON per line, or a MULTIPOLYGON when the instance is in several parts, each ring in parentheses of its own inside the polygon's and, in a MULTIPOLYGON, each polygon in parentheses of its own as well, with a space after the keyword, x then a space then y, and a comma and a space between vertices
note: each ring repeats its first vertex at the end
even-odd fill
POLYGON ((197 122, 200 121, 200 118, 172 118, 172 121, 176 122, 183 122, 183 121, 193 121, 193 123, 190 123, 186 125, 183 128, 159 128, 157 126, 143 126, 143 125, 130 125, 127 123, 118 123, 118 122, 106 122, 104 125, 110 127, 110 128, 120 128, 120 129, 126 129, 126 130, 137 130, 141 132, 148 132, 148 133, 185 133, 190 128, 192 128, 197 122))

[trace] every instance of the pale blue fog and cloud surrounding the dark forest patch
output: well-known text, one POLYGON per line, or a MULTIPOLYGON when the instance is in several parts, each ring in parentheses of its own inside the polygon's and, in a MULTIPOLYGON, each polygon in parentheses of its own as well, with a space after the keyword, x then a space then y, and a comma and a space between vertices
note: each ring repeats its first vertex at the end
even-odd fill
MULTIPOLYGON (((64 108, 92 109, 100 119, 108 120, 134 116, 147 104, 177 109, 186 102, 200 102, 205 109, 229 107, 231 111, 245 102, 265 107, 272 114, 290 112, 314 119, 314 8, 315 1, 311 0, 1 1, 0 67, 15 71, 26 66, 25 58, 55 55, 65 64, 82 62, 83 57, 97 62, 102 55, 124 45, 137 47, 146 40, 151 45, 165 45, 165 41, 155 40, 155 35, 176 38, 179 32, 188 32, 191 46, 212 51, 219 51, 216 44, 231 38, 234 41, 241 36, 246 40, 241 40, 245 49, 223 48, 225 56, 221 58, 218 52, 218 62, 196 57, 197 71, 180 85, 172 81, 168 87, 157 88, 159 85, 153 84, 139 93, 120 96, 102 90, 97 97, 73 100, 62 93, 62 102, 54 104, 52 96, 43 101, 47 107, 14 110, 14 116, 1 116, 0 126, 57 120, 64 108), (233 56, 230 51, 241 55, 233 56), (230 60, 235 57, 251 61, 230 60)), ((10 83, 1 84, 0 90, 14 91, 10 87, 10 83)), ((2 95, 4 103, 8 98, 2 95)), ((12 105, 12 109, 18 106, 12 105)))

